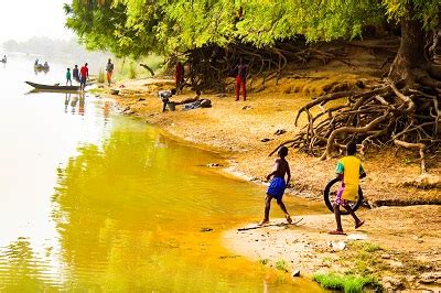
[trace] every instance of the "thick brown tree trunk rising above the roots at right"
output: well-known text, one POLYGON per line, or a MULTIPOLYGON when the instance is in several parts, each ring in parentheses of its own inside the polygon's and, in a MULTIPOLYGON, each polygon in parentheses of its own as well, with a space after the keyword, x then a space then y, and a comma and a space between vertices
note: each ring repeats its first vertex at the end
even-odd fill
POLYGON ((415 69, 426 69, 427 65, 422 23, 402 18, 401 43, 390 66, 389 79, 394 83, 406 80, 406 84, 412 85, 416 82, 415 69))

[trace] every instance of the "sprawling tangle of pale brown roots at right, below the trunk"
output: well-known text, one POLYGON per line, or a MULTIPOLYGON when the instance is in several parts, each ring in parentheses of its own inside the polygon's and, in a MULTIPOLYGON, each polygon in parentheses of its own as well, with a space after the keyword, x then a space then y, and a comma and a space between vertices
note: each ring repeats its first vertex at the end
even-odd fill
POLYGON ((361 149, 395 143, 419 150, 424 173, 424 153, 441 145, 441 87, 429 77, 418 82, 408 88, 404 83, 386 80, 367 91, 319 97, 299 110, 294 123, 298 124, 302 113, 306 115, 308 123, 281 145, 289 144, 325 160, 335 151, 343 152, 352 140, 361 149))

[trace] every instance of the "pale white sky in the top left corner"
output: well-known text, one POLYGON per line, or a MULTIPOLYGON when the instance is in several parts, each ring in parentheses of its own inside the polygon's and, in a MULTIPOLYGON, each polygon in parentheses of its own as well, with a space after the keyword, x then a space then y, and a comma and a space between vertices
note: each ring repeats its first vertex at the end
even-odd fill
POLYGON ((64 28, 63 4, 71 0, 8 0, 1 1, 0 43, 32 36, 71 39, 74 33, 64 28))

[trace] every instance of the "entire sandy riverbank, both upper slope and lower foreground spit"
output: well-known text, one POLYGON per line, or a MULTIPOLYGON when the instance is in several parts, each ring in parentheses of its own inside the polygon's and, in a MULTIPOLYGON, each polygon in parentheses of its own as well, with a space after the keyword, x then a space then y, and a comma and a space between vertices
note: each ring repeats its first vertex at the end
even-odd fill
MULTIPOLYGON (((211 99, 213 107, 190 111, 176 107, 176 111, 161 112, 157 91, 172 88, 173 80, 170 79, 127 82, 119 95, 112 97, 125 115, 141 117, 178 140, 216 151, 228 161, 227 172, 263 183, 275 160, 268 154, 299 131, 293 126, 293 118, 304 102, 320 95, 324 86, 336 82, 346 83, 348 87, 355 87, 361 78, 365 84, 375 82, 375 77, 347 73, 347 68, 340 72, 334 68, 332 73, 308 73, 304 78, 281 80, 280 86, 272 85, 259 93, 251 90, 247 101, 234 101, 232 94, 203 93, 202 98, 211 99), (275 134, 278 130, 286 132, 275 134)), ((172 100, 192 96, 194 93, 187 90, 172 100)), ((421 178, 417 158, 408 152, 395 156, 390 150, 368 152, 365 158, 368 176, 363 183, 368 202, 374 206, 439 203, 440 186, 426 189, 409 186, 409 182, 415 184, 421 178)), ((288 160, 293 174, 289 194, 321 200, 323 186, 334 176, 336 159, 319 161, 290 150, 288 160)), ((430 181, 439 181, 440 163, 430 164, 429 172, 430 181)), ((289 209, 294 211, 295 207, 289 209)), ((356 241, 326 234, 334 227, 332 214, 308 216, 299 227, 233 230, 225 234, 224 240, 235 253, 268 260, 265 261, 267 265, 283 260, 290 264, 289 270, 299 269, 306 275, 318 271, 353 270, 377 275, 386 287, 440 286, 440 206, 433 205, 362 210, 366 225, 356 235, 366 239, 356 241), (333 251, 330 243, 338 241, 345 242, 344 250, 333 251)), ((250 221, 259 217, 256 215, 250 221)), ((272 220, 277 221, 281 220, 272 220)), ((247 225, 250 224, 244 224, 247 225)), ((347 232, 355 232, 349 217, 345 218, 344 226, 347 232)))

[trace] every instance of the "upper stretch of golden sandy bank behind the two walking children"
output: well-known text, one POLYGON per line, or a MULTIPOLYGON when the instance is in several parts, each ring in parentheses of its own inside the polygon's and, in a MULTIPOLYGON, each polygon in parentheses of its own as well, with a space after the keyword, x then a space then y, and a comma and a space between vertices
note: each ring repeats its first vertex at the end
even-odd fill
MULTIPOLYGON (((282 86, 250 93, 247 101, 234 101, 232 94, 203 93, 202 98, 211 99, 213 107, 190 111, 181 111, 178 106, 176 111, 161 112, 162 104, 157 93, 159 89, 173 87, 173 80, 170 79, 127 82, 125 88, 120 89, 120 95, 112 97, 123 113, 139 116, 178 140, 219 152, 229 161, 229 172, 255 182, 263 182, 275 160, 268 154, 299 131, 293 124, 299 108, 310 101, 311 97, 320 95, 319 89, 326 85, 340 80, 354 87, 359 79, 357 75, 344 72, 340 75, 334 72, 333 77, 327 77, 330 73, 326 72, 316 74, 318 76, 309 75, 310 78, 281 80, 282 86), (319 79, 311 82, 311 77, 319 79), (298 88, 299 85, 302 88, 298 88), (292 88, 298 93, 284 94, 291 93, 292 88), (286 132, 275 134, 278 130, 286 132)), ((364 79, 365 83, 374 83, 375 78, 364 79)), ((193 96, 194 93, 187 90, 172 100, 179 101, 193 96)), ((293 188, 290 193, 320 198, 323 186, 334 176, 337 159, 319 161, 290 150, 288 160, 293 175, 293 188)), ((365 167, 368 176, 363 188, 372 205, 441 203, 440 162, 430 163, 430 175, 422 178, 417 153, 400 151, 394 155, 391 150, 370 150, 365 158, 365 167), (438 188, 409 186, 418 182, 438 182, 438 188)))

